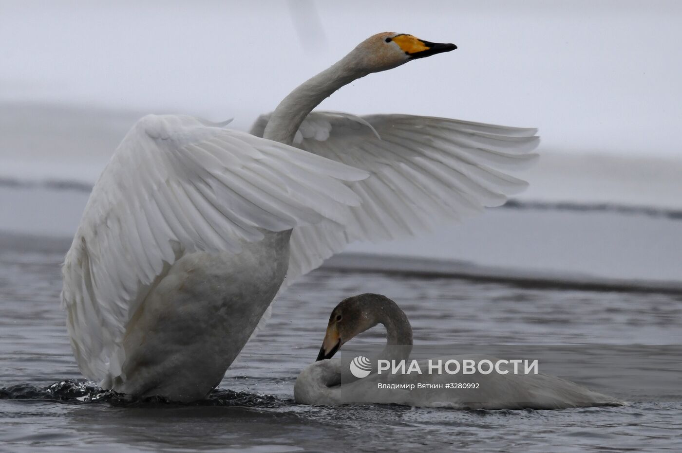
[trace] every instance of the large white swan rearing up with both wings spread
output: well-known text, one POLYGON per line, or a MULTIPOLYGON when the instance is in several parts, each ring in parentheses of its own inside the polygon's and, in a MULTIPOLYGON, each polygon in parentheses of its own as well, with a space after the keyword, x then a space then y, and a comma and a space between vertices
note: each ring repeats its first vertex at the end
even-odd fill
MULTIPOLYGON (((535 129, 310 114, 352 80, 455 48, 374 35, 258 119, 254 135, 191 116, 138 121, 62 269, 80 371, 119 392, 200 399, 278 290, 347 243, 413 234, 522 189, 495 169, 531 161, 535 129)), ((405 84, 443 95, 430 90, 438 82, 405 84)))

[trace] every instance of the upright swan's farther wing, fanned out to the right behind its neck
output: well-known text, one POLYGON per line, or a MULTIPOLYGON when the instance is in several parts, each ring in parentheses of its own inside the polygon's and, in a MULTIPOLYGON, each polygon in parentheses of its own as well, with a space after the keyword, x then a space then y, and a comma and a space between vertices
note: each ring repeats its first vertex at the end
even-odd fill
MULTIPOLYGON (((261 115, 252 134, 262 136, 268 120, 261 115)), ((353 241, 411 235, 504 204, 527 183, 500 170, 537 157, 536 132, 432 116, 310 113, 294 145, 371 176, 346 183, 362 202, 344 206, 344 221, 294 228, 282 288, 353 241)))

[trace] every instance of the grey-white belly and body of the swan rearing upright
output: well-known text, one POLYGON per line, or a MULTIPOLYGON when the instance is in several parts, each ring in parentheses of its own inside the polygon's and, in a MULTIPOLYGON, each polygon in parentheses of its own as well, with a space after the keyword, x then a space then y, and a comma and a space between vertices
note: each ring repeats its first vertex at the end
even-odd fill
POLYGON ((126 394, 170 395, 174 401, 202 399, 218 386, 239 354, 234 345, 246 344, 275 297, 286 273, 287 249, 284 232, 269 233, 239 254, 183 255, 128 323, 123 368, 103 386, 126 394))

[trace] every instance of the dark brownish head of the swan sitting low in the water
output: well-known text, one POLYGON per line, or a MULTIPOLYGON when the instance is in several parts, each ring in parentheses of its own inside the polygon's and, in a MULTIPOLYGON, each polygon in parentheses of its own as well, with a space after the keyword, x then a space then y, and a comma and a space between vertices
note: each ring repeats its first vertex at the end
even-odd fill
MULTIPOLYGON (((389 307, 398 306, 381 294, 359 294, 339 302, 329 316, 317 360, 331 358, 344 343, 382 322, 385 309, 389 307)), ((402 313, 400 309, 398 311, 402 313)))

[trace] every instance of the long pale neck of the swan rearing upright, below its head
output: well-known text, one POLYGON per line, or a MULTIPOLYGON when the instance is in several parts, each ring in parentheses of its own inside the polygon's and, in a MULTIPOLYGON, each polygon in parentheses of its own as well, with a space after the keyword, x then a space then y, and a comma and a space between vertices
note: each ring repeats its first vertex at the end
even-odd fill
POLYGON ((277 106, 265 127, 263 138, 292 144, 296 131, 308 113, 346 84, 369 72, 360 69, 351 54, 346 55, 320 74, 308 79, 289 93, 277 106))

